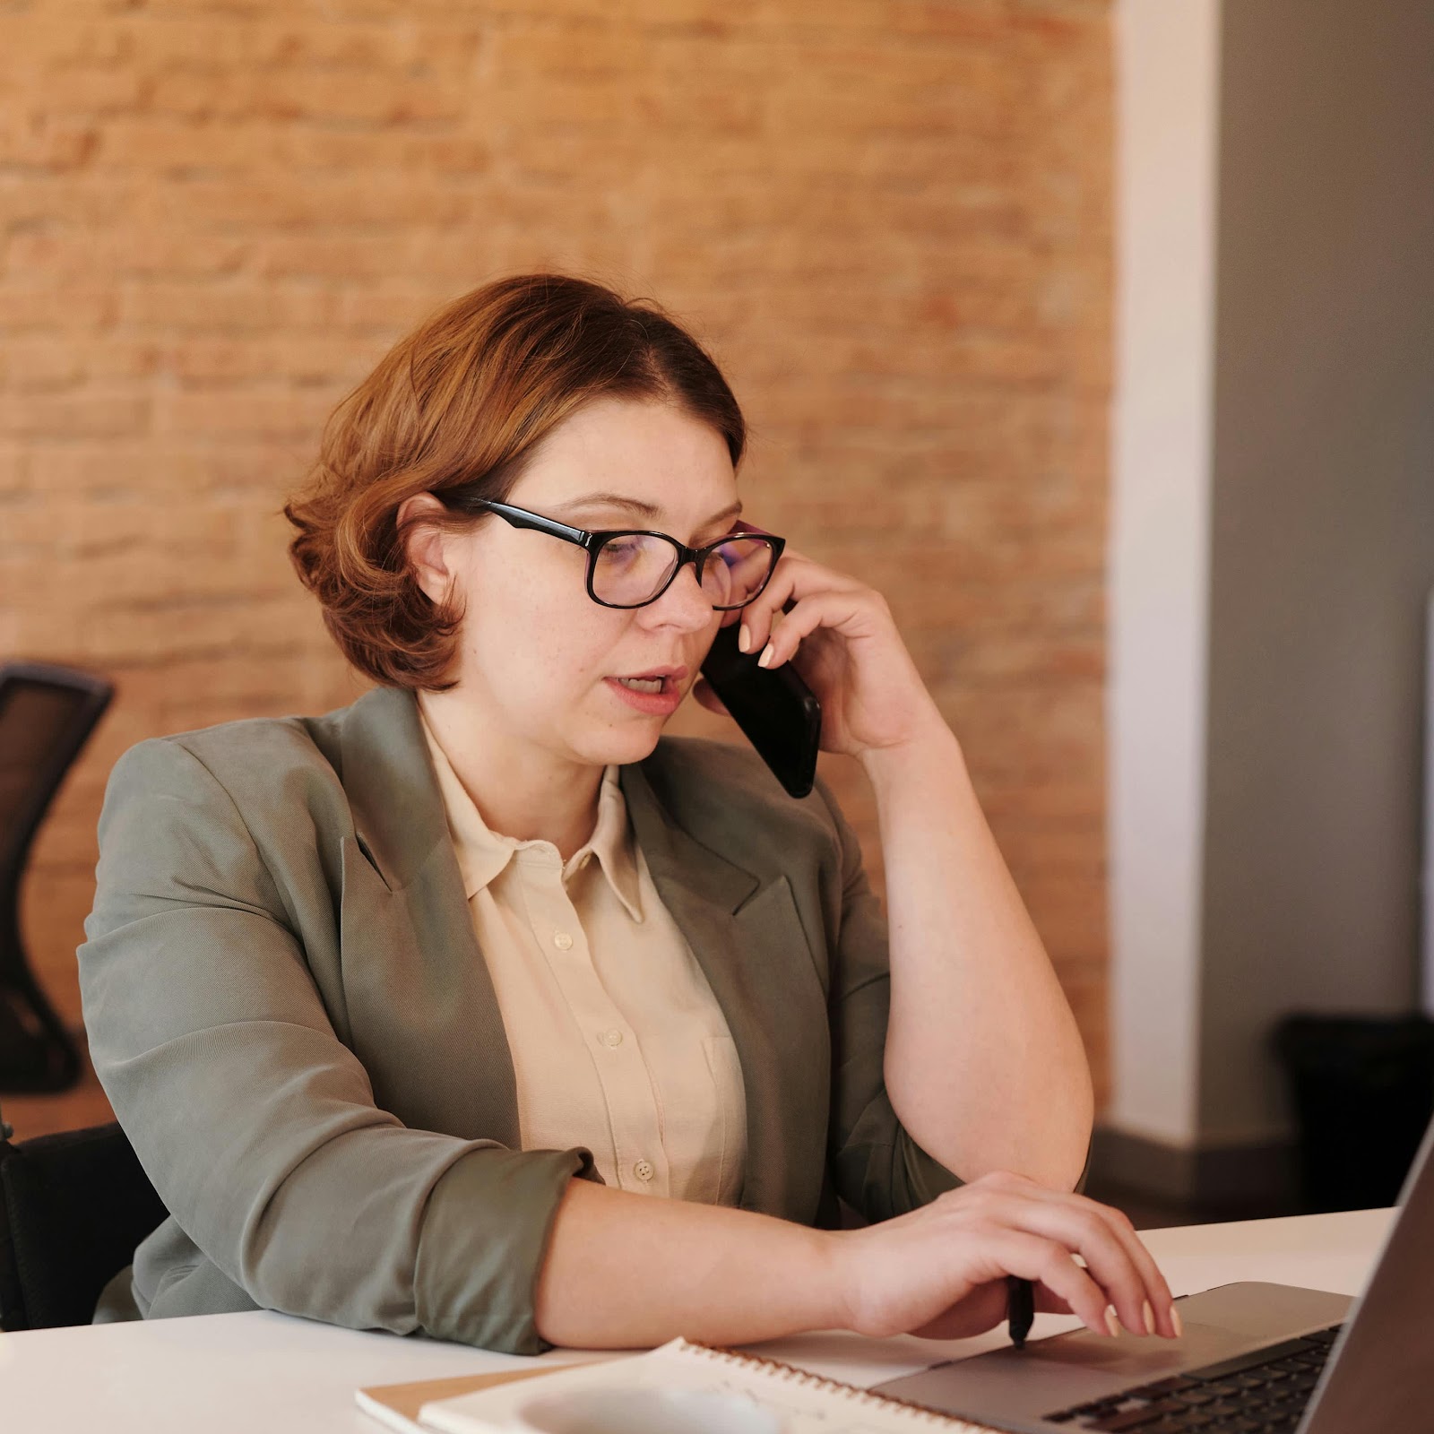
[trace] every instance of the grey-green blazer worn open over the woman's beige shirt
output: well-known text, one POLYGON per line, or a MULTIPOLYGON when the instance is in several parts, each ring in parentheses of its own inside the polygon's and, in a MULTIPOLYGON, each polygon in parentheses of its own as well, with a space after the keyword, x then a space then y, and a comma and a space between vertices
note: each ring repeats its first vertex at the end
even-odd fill
MULTIPOLYGON (((958 1184, 886 1097, 886 922, 826 787, 792 800, 749 749, 665 737, 621 780, 741 1060, 741 1207, 832 1226, 837 1196, 882 1220, 958 1184)), ((90 1053, 171 1212, 130 1315, 549 1348, 549 1226, 601 1176, 585 1149, 521 1149, 412 694, 143 741, 99 839, 90 1053)))

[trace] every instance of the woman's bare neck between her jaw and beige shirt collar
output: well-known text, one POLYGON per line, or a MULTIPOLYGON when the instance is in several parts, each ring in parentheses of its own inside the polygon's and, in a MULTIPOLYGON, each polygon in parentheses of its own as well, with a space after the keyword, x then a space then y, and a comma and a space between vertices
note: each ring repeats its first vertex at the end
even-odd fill
POLYGON ((422 693, 419 707, 490 832, 552 842, 564 860, 592 836, 602 767, 495 731, 456 693, 422 693))

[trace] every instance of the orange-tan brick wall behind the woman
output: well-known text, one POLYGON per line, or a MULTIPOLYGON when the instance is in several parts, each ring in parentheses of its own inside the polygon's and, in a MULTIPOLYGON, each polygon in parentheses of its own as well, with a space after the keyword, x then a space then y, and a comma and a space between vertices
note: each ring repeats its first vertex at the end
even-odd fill
POLYGON ((115 757, 360 690, 278 518, 326 412, 558 267, 691 323, 751 512, 888 595, 1103 1080, 1110 161, 1106 0, 0 3, 0 657, 119 683, 24 902, 67 1015, 115 757))

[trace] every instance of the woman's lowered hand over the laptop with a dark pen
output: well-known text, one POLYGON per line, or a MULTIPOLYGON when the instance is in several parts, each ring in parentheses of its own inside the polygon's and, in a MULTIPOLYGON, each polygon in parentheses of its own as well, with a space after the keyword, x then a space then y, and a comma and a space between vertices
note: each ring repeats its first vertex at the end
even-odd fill
POLYGON ((1081 1195, 994 1173, 909 1215, 832 1236, 846 1328, 962 1339, 1007 1315, 1008 1275, 1035 1283, 1035 1308, 1114 1334, 1180 1336, 1170 1286, 1130 1220, 1081 1195), (1078 1256, 1078 1260, 1077 1260, 1078 1256))

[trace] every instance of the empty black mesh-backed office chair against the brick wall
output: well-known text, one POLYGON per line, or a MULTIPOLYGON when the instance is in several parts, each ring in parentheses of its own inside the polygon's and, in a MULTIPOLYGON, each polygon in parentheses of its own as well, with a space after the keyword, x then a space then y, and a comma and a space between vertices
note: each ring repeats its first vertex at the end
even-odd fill
POLYGON ((20 939, 20 878, 40 822, 113 697, 102 677, 43 663, 0 667, 0 1091, 67 1090, 80 1055, 20 939))

